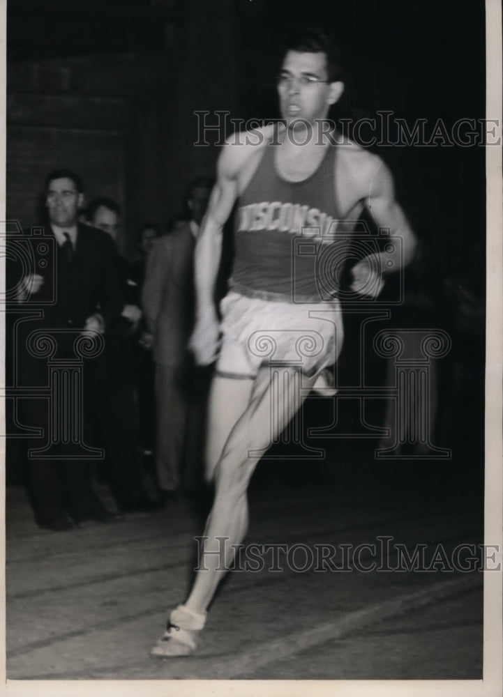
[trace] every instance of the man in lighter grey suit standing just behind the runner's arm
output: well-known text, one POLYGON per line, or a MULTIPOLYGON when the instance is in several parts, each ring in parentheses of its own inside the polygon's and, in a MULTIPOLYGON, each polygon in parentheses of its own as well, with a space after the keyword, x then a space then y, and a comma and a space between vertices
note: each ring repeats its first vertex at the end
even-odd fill
MULTIPOLYGON (((197 411, 190 407, 193 366, 187 345, 193 328, 195 240, 210 192, 211 183, 206 179, 190 184, 190 219, 153 243, 142 291, 156 362, 156 470, 164 501, 178 496, 189 410, 197 411)), ((191 434, 191 439, 197 438, 202 433, 191 434)))

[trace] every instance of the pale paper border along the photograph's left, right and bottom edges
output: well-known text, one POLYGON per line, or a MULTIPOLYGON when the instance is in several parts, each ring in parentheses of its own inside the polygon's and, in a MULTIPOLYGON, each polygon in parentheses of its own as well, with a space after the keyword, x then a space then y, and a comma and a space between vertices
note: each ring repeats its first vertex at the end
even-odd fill
MULTIPOLYGON (((14 1, 14 0, 13 0, 14 1)), ((2 25, 2 88, 0 96, 1 150, 0 186, 4 195, 0 201, 1 220, 5 220, 6 206, 6 2, 1 3, 2 25)), ((486 0, 486 117, 497 119, 499 137, 502 137, 502 8, 499 0, 486 0)), ((500 141, 501 142, 501 141, 500 141)), ((485 533, 484 543, 497 545, 496 562, 502 562, 503 549, 503 447, 502 447, 502 382, 503 382, 503 195, 502 148, 486 147, 486 210, 487 210, 487 317, 486 317, 486 482, 485 482, 485 533)), ((5 279, 5 259, 0 261, 1 277, 5 279)), ((1 314, 1 381, 5 380, 5 314, 1 314)), ((1 411, 2 425, 5 413, 1 411)), ((5 443, 1 442, 0 457, 5 464, 5 443)), ((3 536, 1 539, 5 560, 5 478, 1 483, 3 500, 3 536)), ((500 567, 501 568, 501 567, 500 567)), ((5 565, 1 569, 5 591, 5 565)), ((264 695, 294 697, 313 694, 317 697, 344 695, 373 697, 374 695, 400 695, 426 697, 497 697, 502 694, 503 683, 503 595, 502 572, 484 572, 483 609, 483 680, 482 681, 29 681, 6 680, 5 634, 3 635, 3 691, 7 695, 31 697, 61 697, 103 695, 163 695, 176 689, 177 697, 185 695, 218 694, 222 697, 236 695, 264 695), (176 687, 175 687, 176 685, 176 687)), ((5 592, 1 604, 3 627, 6 626, 5 592)))

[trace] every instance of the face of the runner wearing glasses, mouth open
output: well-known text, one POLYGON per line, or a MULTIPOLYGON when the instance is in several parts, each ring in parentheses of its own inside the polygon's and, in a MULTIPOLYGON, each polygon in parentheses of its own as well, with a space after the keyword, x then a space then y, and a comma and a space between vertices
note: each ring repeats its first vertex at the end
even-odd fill
POLYGON ((289 51, 278 78, 280 112, 290 125, 296 119, 314 123, 326 118, 338 99, 339 82, 328 82, 324 53, 289 51))

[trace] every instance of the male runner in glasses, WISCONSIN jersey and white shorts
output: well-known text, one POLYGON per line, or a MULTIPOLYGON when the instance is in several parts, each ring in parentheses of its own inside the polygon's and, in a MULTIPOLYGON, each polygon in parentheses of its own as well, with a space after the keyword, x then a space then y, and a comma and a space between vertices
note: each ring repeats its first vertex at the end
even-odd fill
POLYGON ((326 128, 329 107, 343 93, 341 77, 326 36, 313 30, 296 36, 278 78, 285 125, 234 136, 220 155, 197 243, 197 321, 191 340, 197 362, 209 364, 218 355, 206 463, 215 500, 195 583, 151 651, 158 657, 197 648, 207 607, 225 574, 217 537, 227 538, 228 569, 233 545, 242 542, 248 528, 246 491, 257 451, 264 452, 278 436, 340 353, 338 289, 333 287, 331 298, 320 292, 331 277, 330 264, 320 263, 313 273, 313 254, 292 254, 294 238, 305 236, 320 259, 333 250, 331 258, 339 266, 347 254, 347 232, 367 207, 378 226, 403 240, 401 256, 396 245, 352 268, 352 291, 371 297, 382 289, 382 273, 397 270, 414 253, 414 233, 394 200, 382 160, 356 144, 334 144, 326 128), (219 323, 213 288, 223 224, 237 199, 234 268, 219 323), (344 235, 338 238, 339 231, 344 235), (302 345, 306 336, 310 347, 302 345), (269 356, 283 361, 278 381, 271 380, 269 356))

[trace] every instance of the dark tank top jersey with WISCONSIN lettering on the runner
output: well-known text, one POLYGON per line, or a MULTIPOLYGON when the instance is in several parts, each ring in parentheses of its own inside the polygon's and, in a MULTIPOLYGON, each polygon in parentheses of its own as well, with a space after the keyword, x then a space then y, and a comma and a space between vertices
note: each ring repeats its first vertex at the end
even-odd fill
POLYGON ((264 155, 239 197, 234 224, 234 291, 269 300, 320 301, 337 293, 347 238, 336 240, 336 146, 299 182, 276 171, 275 146, 264 155), (338 242, 338 244, 337 244, 338 242), (341 246, 342 243, 342 246, 341 246))

